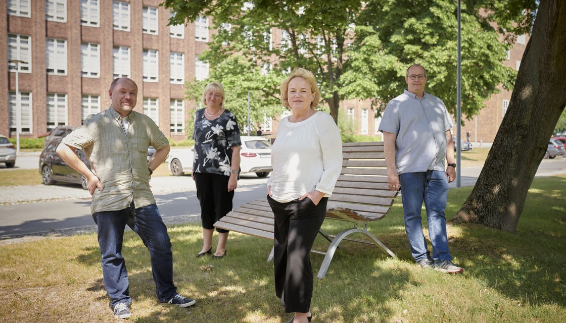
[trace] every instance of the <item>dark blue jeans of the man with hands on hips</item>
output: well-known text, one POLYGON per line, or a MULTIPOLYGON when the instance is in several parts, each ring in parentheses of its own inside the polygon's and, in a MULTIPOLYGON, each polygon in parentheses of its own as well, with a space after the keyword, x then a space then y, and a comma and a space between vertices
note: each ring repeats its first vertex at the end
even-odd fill
POLYGON ((131 303, 126 262, 122 257, 126 225, 140 236, 149 250, 157 298, 168 302, 177 294, 177 287, 173 284, 171 242, 156 204, 136 209, 132 203, 123 210, 96 212, 92 218, 98 226, 102 275, 112 307, 119 302, 131 303))

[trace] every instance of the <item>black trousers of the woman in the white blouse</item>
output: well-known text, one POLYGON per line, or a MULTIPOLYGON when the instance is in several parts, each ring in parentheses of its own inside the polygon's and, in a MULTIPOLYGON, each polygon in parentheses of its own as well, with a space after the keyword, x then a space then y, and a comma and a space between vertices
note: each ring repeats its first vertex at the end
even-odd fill
POLYGON ((267 197, 275 215, 273 265, 275 294, 281 299, 286 313, 306 313, 312 299, 310 252, 324 221, 328 197, 318 205, 310 199, 279 203, 267 197))

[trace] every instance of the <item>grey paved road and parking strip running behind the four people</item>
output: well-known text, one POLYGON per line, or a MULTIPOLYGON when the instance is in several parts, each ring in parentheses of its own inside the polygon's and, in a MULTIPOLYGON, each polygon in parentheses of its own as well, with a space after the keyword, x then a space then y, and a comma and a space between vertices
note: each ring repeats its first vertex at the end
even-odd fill
MULTIPOLYGON (((23 156, 16 167, 36 169, 37 156, 23 156)), ((165 165, 161 166, 164 167, 165 165)), ((14 167, 14 169, 17 169, 14 167)), ((462 169, 461 185, 474 185, 482 167, 462 169)), ((0 166, 0 176, 3 169, 0 166)), ((566 158, 543 160, 537 176, 566 173, 566 158)), ((265 197, 267 178, 243 175, 234 195, 234 208, 265 197)), ((190 176, 152 178, 152 190, 164 218, 200 213, 194 181, 190 176)), ((451 183, 456 187, 456 183, 451 183)), ((35 232, 92 226, 90 195, 79 185, 0 187, 0 239, 35 232)))

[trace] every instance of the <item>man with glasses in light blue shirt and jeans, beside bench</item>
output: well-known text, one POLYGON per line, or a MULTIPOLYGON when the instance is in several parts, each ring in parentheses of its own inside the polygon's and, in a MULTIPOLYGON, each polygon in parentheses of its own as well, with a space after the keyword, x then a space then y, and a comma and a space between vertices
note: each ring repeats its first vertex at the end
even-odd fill
POLYGON ((453 123, 444 103, 424 92, 427 72, 419 64, 407 69, 407 89, 385 107, 379 131, 383 132, 387 183, 401 189, 405 231, 411 253, 423 268, 462 273, 448 251, 446 217, 448 183, 456 177, 453 123), (445 168, 444 163, 448 161, 445 168), (432 257, 424 239, 421 208, 427 213, 432 257))

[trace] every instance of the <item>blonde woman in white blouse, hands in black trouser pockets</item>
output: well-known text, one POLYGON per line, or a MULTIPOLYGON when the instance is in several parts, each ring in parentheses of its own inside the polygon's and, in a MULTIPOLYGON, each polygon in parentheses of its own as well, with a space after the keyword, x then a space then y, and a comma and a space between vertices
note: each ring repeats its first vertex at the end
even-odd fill
POLYGON ((275 293, 285 312, 295 313, 289 322, 305 323, 312 318, 310 251, 340 176, 342 140, 331 115, 315 110, 320 93, 310 71, 295 69, 280 89, 293 114, 278 125, 267 181, 275 214, 275 293))

